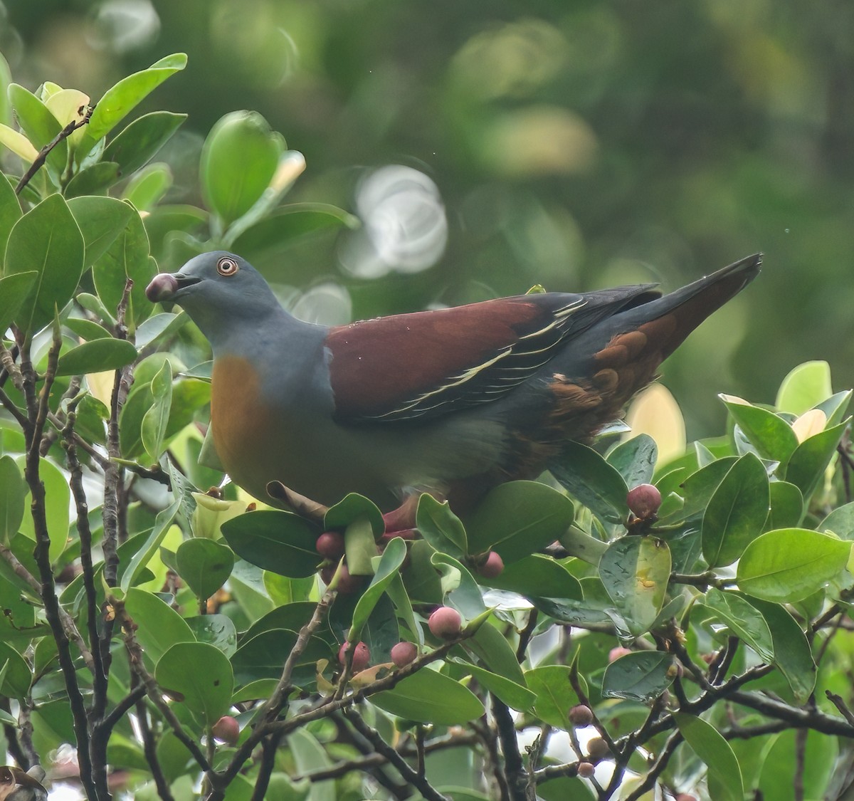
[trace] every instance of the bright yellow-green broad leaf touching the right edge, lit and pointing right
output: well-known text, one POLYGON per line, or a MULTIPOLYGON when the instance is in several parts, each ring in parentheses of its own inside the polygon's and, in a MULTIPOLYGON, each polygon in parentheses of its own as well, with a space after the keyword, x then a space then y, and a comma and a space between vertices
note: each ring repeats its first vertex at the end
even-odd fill
POLYGON ((850 557, 849 541, 810 529, 777 529, 746 547, 736 577, 748 595, 793 604, 839 577, 850 557))

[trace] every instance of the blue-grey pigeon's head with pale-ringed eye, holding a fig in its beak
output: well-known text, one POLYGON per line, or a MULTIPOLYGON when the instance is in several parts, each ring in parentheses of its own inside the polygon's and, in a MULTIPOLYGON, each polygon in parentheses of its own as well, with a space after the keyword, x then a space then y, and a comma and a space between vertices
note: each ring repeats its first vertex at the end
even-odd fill
POLYGON ((281 310, 260 272, 224 250, 198 255, 178 272, 161 272, 145 295, 152 303, 178 303, 208 339, 243 320, 257 321, 281 310))

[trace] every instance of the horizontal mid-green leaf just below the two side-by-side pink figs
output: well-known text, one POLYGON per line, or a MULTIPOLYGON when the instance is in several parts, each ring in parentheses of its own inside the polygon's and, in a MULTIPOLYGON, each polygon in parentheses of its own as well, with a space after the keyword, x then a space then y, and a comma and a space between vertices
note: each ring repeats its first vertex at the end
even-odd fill
POLYGON ((419 670, 393 689, 375 693, 370 699, 392 715, 436 726, 460 726, 485 711, 471 690, 430 669, 419 670))

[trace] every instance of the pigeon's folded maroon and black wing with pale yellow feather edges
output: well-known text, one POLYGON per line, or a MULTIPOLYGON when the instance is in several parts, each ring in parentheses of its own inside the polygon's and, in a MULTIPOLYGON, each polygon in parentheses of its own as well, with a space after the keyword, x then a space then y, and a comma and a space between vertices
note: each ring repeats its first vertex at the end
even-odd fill
POLYGON ((524 383, 567 338, 649 286, 518 295, 399 314, 330 330, 330 381, 341 423, 425 420, 497 400, 524 383))

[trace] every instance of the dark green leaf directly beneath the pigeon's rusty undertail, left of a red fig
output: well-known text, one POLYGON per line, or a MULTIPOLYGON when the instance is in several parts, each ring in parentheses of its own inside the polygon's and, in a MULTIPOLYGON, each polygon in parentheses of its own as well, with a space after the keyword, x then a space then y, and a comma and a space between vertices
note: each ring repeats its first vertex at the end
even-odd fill
POLYGON ((629 488, 625 480, 593 448, 579 442, 564 442, 559 464, 550 469, 573 498, 605 523, 619 523, 629 516, 626 506, 629 488))

